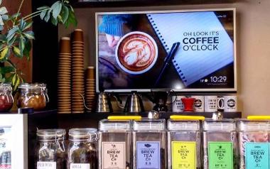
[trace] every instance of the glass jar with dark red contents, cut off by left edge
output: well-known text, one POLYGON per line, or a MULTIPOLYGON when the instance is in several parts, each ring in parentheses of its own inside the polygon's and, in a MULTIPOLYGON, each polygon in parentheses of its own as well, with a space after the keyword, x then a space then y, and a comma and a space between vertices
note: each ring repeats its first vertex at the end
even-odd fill
POLYGON ((0 84, 0 112, 9 111, 13 106, 13 97, 11 92, 11 84, 0 84))

